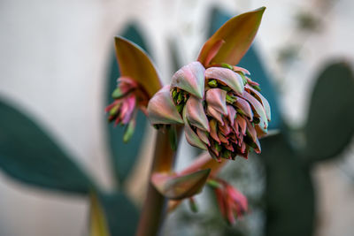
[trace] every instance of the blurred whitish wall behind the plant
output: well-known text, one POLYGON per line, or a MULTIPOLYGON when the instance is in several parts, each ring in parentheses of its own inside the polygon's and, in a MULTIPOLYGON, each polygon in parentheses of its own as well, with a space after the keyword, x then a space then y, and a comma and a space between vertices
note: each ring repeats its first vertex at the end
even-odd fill
MULTIPOLYGON (((0 96, 16 103, 50 131, 58 142, 105 187, 104 78, 113 36, 130 19, 149 37, 164 80, 165 37, 179 38, 185 62, 196 58, 204 41, 209 7, 249 11, 266 5, 257 40, 261 57, 283 93, 282 109, 293 124, 304 122, 312 78, 328 57, 352 61, 354 2, 335 1, 323 15, 326 28, 304 37, 299 58, 283 68, 275 53, 302 37, 294 34, 298 9, 318 12, 320 1, 244 0, 2 0, 0 2, 0 96)), ((354 190, 337 164, 314 171, 319 189, 319 235, 351 235, 354 190), (335 189, 335 191, 333 191, 335 189), (345 202, 345 203, 344 203, 345 202), (351 203, 350 203, 351 202, 351 203), (324 224, 325 223, 325 224, 324 224), (336 233, 334 233, 336 232, 336 233)), ((0 174, 0 233, 6 236, 85 235, 88 205, 84 199, 23 187, 0 174)))

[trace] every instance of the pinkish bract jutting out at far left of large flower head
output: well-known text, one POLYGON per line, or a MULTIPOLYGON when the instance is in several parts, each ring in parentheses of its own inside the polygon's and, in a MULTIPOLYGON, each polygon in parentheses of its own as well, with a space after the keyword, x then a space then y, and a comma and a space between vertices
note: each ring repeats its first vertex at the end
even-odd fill
POLYGON ((183 124, 180 113, 173 103, 170 86, 166 85, 156 93, 148 104, 150 123, 155 124, 183 124))

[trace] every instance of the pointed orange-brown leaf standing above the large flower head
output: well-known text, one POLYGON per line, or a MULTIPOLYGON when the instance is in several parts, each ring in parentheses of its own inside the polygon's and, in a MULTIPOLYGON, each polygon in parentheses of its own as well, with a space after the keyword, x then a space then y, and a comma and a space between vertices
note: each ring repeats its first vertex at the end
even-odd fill
POLYGON ((224 41, 219 52, 212 58, 212 64, 227 63, 236 65, 250 48, 250 44, 257 34, 263 12, 266 7, 249 11, 229 19, 212 37, 204 43, 198 57, 203 65, 212 52, 216 42, 224 41))

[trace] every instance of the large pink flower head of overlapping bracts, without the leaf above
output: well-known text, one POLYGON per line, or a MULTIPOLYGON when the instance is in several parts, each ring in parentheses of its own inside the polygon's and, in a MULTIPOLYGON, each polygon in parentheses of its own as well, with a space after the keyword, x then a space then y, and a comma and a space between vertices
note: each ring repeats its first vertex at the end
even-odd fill
POLYGON ((175 120, 181 121, 177 111, 189 144, 207 149, 217 160, 247 158, 251 149, 260 153, 258 138, 266 134, 271 120, 269 103, 258 86, 250 79, 250 72, 241 67, 220 64, 205 70, 202 64, 193 62, 173 75, 169 93, 164 90, 165 99, 158 103, 154 97, 151 99, 149 107, 161 109, 150 109, 156 110, 150 113, 150 121, 173 124, 175 120), (161 116, 163 107, 173 112, 161 116), (172 114, 173 119, 168 118, 172 114))

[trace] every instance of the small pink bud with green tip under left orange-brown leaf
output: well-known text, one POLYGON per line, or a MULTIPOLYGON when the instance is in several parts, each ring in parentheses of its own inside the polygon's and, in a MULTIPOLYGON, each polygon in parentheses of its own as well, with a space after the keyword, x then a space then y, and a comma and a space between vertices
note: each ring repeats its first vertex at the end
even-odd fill
POLYGON ((105 111, 109 113, 108 120, 114 121, 115 126, 126 126, 123 141, 127 142, 135 130, 137 110, 140 108, 146 113, 149 96, 129 77, 120 77, 117 81, 118 86, 112 93, 114 102, 108 105, 105 111))

